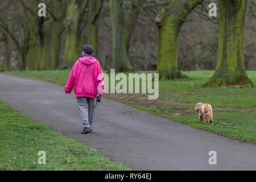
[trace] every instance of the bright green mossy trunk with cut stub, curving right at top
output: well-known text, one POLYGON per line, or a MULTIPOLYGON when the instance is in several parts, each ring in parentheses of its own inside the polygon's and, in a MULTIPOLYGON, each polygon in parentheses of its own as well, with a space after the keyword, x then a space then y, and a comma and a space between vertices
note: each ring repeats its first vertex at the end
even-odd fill
POLYGON ((177 38, 184 19, 202 0, 171 1, 156 16, 158 26, 158 64, 159 79, 186 78, 177 67, 177 38))

